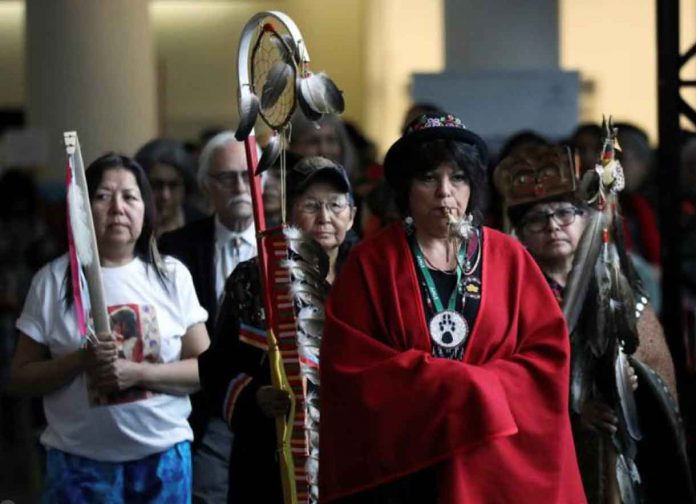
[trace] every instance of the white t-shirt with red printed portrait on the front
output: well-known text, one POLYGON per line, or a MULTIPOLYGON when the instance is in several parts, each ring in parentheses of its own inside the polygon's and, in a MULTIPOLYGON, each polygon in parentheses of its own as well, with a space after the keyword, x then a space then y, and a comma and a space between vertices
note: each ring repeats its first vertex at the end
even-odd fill
MULTIPOLYGON (((32 280, 17 328, 48 346, 52 356, 80 348, 74 307, 66 309, 67 254, 48 263, 32 280)), ((140 259, 102 268, 104 291, 121 357, 135 361, 173 362, 181 357, 181 337, 207 319, 188 269, 165 259, 165 285, 140 259)), ((48 428, 41 442, 48 448, 108 462, 136 460, 193 439, 187 417, 188 396, 129 389, 115 396, 88 390, 85 373, 44 396, 48 428)))

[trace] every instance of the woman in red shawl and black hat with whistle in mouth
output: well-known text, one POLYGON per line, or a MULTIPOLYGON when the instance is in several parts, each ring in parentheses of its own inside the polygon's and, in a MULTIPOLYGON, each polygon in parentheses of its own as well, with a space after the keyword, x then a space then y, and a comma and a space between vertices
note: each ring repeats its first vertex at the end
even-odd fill
POLYGON ((585 502, 563 315, 521 245, 479 226, 485 162, 450 114, 387 153, 404 224, 354 249, 326 307, 322 502, 585 502))

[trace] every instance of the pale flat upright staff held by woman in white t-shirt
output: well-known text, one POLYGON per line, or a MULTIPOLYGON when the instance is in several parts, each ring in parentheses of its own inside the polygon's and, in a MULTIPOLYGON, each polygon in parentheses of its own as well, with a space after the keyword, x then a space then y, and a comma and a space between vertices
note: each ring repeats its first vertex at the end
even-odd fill
POLYGON ((65 181, 67 186, 68 255, 73 301, 80 336, 96 343, 98 335, 108 334, 111 331, 106 296, 102 285, 99 250, 94 233, 80 141, 74 131, 63 133, 63 140, 67 157, 65 181), (89 297, 85 295, 85 283, 89 297), (90 312, 94 321, 93 330, 88 327, 90 312))

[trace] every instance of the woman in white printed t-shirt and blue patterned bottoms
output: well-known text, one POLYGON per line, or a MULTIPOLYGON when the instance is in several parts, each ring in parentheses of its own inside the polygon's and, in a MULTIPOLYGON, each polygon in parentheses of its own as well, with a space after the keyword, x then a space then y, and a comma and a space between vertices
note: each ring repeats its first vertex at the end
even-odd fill
POLYGON ((140 165, 106 154, 85 177, 111 332, 80 336, 82 317, 97 319, 101 303, 82 305, 72 251, 34 276, 16 324, 11 387, 43 396, 48 423, 43 500, 187 502, 188 394, 198 389, 196 357, 209 344, 207 313, 186 267, 157 251, 140 165))

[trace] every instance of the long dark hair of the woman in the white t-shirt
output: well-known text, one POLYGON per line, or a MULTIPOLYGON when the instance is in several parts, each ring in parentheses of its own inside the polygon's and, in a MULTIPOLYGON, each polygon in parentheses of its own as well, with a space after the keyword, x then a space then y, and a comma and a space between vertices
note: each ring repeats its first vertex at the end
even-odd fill
MULTIPOLYGON (((94 193, 104 177, 104 172, 116 169, 128 170, 133 174, 145 206, 143 227, 140 231, 140 236, 135 241, 134 255, 148 266, 152 266, 159 280, 164 284, 165 271, 162 268, 162 260, 159 250, 157 249, 157 242, 154 234, 155 203, 152 199, 152 188, 150 187, 150 183, 147 180, 143 168, 134 159, 113 152, 109 152, 95 159, 92 164, 87 167, 87 170, 85 170, 87 192, 90 202, 92 198, 94 198, 94 193)), ((73 303, 73 290, 70 275, 70 265, 68 264, 68 269, 65 272, 64 278, 65 297, 63 298, 66 307, 70 307, 73 303)))

